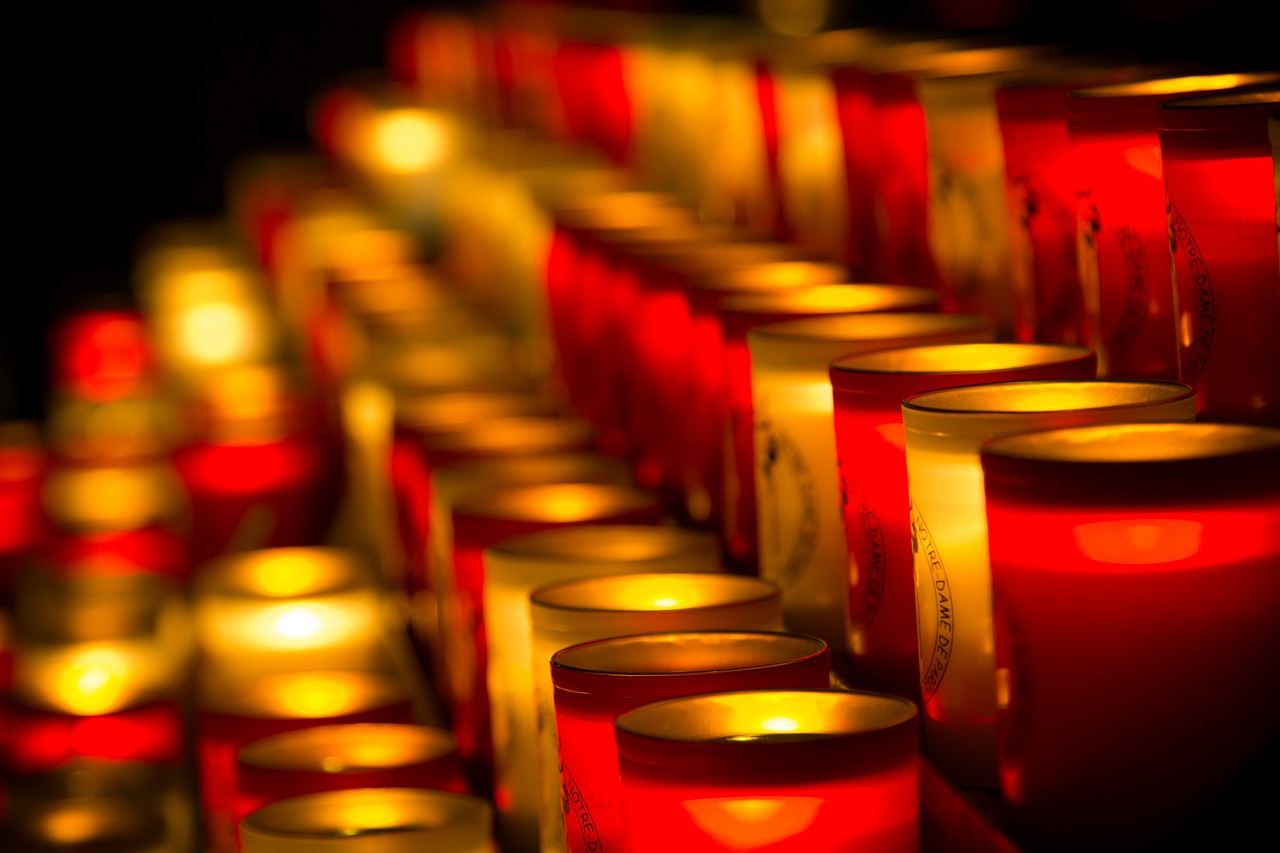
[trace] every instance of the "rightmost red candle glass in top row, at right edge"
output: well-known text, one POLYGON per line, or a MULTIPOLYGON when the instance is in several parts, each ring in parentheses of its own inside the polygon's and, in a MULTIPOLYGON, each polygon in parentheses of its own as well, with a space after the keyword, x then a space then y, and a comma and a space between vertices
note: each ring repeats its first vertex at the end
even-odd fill
POLYGON ((1280 426, 1280 251, 1268 119, 1280 88, 1160 106, 1179 375, 1199 416, 1280 426))

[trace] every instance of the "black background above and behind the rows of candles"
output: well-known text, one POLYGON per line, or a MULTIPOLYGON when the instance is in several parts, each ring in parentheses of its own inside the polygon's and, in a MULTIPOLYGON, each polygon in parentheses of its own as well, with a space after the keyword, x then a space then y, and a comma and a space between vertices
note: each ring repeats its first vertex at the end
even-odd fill
MULTIPOLYGON (((60 314, 125 297, 150 224, 223 209, 241 156, 307 145, 326 82, 384 65, 392 22, 429 3, 178 0, 27 8, 6 26, 10 225, 0 305, 0 419, 42 418, 60 314)), ((434 4, 436 6, 442 4, 434 4)), ((611 5, 607 1, 579 5, 611 5)), ((614 6, 750 14, 750 0, 614 6)), ((1004 32, 1079 51, 1275 67, 1256 0, 844 0, 835 24, 1004 32)), ((457 6, 456 6, 457 8, 457 6)), ((461 6, 467 8, 467 6, 461 6)), ((472 4, 471 8, 475 8, 472 4)))

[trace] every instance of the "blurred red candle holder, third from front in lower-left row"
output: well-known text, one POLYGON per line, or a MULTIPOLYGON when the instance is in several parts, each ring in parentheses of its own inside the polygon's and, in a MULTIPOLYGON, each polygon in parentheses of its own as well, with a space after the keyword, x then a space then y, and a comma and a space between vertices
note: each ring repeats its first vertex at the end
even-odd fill
POLYGON ((317 670, 202 685, 196 756, 209 849, 239 849, 236 789, 241 747, 311 726, 412 721, 410 697, 390 675, 317 670))

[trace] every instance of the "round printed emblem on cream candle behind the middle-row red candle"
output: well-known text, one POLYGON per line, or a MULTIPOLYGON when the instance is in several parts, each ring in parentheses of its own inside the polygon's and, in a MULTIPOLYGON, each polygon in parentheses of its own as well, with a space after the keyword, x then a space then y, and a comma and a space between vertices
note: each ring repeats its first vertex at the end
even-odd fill
POLYGON ((818 501, 813 474, 791 437, 765 418, 756 429, 763 434, 760 479, 764 501, 760 514, 762 565, 777 566, 776 580, 794 584, 809 567, 818 547, 818 501), (785 532, 794 532, 790 542, 785 532))

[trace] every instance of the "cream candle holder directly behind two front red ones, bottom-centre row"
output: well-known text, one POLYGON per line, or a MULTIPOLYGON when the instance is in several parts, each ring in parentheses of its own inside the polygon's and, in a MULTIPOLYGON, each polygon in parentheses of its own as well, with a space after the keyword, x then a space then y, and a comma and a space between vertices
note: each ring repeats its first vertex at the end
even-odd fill
POLYGON ((573 580, 535 590, 532 666, 538 698, 540 821, 544 849, 564 847, 571 813, 561 788, 550 660, 570 646, 625 637, 694 630, 782 629, 777 587, 736 575, 618 575, 573 580))

